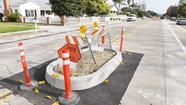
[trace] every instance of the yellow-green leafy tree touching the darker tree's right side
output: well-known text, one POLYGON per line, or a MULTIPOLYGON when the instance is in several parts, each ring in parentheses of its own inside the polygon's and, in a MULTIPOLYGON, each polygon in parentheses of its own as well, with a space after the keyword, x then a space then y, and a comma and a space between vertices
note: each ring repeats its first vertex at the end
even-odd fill
POLYGON ((105 15, 110 11, 105 0, 82 0, 83 12, 88 16, 105 15))

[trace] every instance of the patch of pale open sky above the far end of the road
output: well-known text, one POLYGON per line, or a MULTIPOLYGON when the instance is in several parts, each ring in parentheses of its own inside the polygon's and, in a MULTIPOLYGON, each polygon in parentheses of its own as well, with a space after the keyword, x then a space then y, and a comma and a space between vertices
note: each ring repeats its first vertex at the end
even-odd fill
POLYGON ((139 3, 143 1, 146 4, 147 10, 153 10, 159 14, 163 14, 167 11, 170 5, 178 5, 179 0, 136 0, 139 3))

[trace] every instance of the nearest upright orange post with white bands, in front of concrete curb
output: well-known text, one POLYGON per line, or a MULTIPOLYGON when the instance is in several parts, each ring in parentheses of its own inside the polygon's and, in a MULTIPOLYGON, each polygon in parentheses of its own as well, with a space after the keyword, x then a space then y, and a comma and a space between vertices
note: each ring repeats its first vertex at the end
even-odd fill
POLYGON ((69 49, 64 49, 62 52, 63 58, 63 72, 64 72, 64 80, 65 80, 65 98, 72 98, 72 90, 71 90, 71 80, 70 80, 70 54, 69 49))

